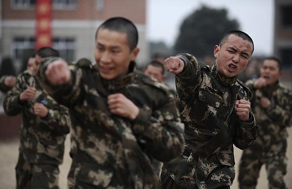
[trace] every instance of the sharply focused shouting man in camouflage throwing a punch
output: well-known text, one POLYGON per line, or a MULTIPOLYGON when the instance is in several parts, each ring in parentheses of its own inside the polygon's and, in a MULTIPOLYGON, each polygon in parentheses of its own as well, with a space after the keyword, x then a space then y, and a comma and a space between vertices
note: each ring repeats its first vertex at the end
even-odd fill
POLYGON ((164 163, 162 188, 230 188, 235 177, 233 144, 246 149, 256 139, 250 92, 237 79, 253 53, 244 32, 230 31, 214 47, 211 66, 190 54, 165 61, 176 74, 177 106, 185 123, 185 150, 164 163))

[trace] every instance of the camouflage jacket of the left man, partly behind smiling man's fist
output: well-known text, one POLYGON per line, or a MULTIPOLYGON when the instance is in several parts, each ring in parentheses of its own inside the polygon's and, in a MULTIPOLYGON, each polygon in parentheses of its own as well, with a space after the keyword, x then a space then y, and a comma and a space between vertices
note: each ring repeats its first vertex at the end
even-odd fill
POLYGON ((3 107, 7 115, 22 113, 20 150, 30 163, 60 164, 64 153, 64 140, 69 132, 68 109, 58 105, 39 86, 35 74, 24 71, 17 77, 16 85, 7 93, 3 107), (19 95, 28 86, 37 89, 33 100, 20 102, 19 95), (34 114, 33 105, 40 102, 48 108, 46 117, 34 114))

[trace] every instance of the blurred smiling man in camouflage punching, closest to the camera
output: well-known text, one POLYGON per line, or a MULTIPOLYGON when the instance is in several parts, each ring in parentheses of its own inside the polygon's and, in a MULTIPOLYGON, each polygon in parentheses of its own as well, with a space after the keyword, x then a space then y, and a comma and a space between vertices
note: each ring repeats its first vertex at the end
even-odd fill
POLYGON ((153 159, 182 152, 173 95, 136 70, 137 41, 131 21, 111 18, 96 32, 96 67, 81 59, 69 70, 50 59, 39 70, 42 86, 70 111, 76 147, 68 188, 157 188, 153 159))

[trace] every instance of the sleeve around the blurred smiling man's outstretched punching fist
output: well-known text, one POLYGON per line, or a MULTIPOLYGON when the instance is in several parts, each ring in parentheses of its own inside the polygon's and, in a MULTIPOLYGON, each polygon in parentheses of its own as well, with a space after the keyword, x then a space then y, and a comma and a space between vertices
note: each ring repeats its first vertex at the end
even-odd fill
POLYGON ((40 64, 38 71, 39 83, 43 89, 51 96, 57 103, 66 107, 74 106, 81 97, 82 88, 82 70, 75 66, 70 66, 71 78, 70 81, 63 85, 51 84, 45 75, 45 71, 49 64, 58 58, 48 58, 40 64))

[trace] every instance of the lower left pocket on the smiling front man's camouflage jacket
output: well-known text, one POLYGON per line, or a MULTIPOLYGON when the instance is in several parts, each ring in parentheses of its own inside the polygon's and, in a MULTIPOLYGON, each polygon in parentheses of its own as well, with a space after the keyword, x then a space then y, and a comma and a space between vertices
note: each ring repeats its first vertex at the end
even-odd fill
POLYGON ((99 188, 107 187, 113 177, 113 171, 107 166, 81 164, 80 170, 77 173, 77 180, 90 184, 93 186, 99 186, 99 188))

